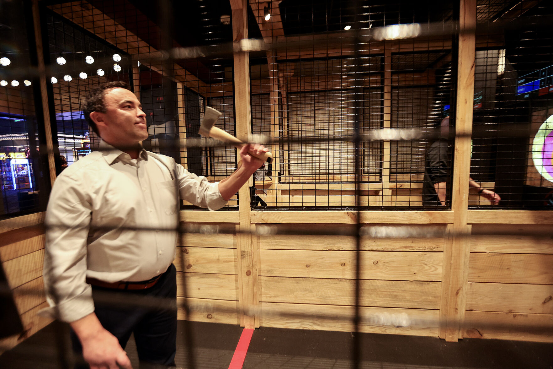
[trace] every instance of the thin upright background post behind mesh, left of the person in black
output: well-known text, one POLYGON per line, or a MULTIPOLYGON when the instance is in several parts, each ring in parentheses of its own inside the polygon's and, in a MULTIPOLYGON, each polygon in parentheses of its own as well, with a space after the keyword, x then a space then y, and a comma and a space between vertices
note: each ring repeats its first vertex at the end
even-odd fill
MULTIPOLYGON (((392 126, 392 49, 385 44, 384 49, 384 127, 392 126)), ((392 205, 390 189, 390 141, 383 142, 382 148, 382 205, 392 205)))

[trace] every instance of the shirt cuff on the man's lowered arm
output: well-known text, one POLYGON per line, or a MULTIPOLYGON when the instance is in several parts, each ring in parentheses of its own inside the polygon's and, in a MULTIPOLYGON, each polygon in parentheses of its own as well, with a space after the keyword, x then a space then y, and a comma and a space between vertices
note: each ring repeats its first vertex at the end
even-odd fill
POLYGON ((94 301, 92 300, 92 289, 88 286, 80 295, 74 296, 69 300, 61 301, 55 305, 48 299, 50 307, 39 311, 40 316, 51 317, 67 323, 79 320, 82 317, 94 312, 94 301))

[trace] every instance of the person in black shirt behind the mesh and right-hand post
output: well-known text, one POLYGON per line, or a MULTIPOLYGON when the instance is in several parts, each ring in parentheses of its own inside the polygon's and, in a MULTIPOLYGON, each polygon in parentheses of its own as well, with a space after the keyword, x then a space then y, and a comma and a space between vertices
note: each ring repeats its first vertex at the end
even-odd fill
MULTIPOLYGON (((449 117, 441 121, 441 134, 446 137, 449 131, 449 117)), ((422 204, 425 207, 446 206, 450 199, 451 186, 447 182, 451 178, 451 144, 440 138, 426 149, 424 182, 422 183, 422 204)), ((485 189, 472 178, 468 185, 478 188, 478 194, 497 205, 501 197, 491 189, 485 189)))

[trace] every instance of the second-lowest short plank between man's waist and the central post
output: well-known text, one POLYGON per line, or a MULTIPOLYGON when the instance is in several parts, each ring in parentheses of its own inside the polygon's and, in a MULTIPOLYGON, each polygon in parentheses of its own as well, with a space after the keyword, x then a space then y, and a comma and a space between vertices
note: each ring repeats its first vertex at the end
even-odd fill
POLYGON ((177 296, 185 297, 182 278, 186 278, 188 298, 238 301, 238 277, 229 274, 177 273, 177 296))

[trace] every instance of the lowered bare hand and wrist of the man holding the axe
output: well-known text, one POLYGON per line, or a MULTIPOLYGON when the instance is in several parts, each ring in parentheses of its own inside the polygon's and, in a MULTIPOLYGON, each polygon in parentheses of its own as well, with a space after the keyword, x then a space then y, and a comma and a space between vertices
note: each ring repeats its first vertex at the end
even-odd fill
POLYGON ((82 356, 91 369, 132 369, 131 360, 119 345, 117 337, 102 326, 95 313, 70 325, 81 341, 82 356))

